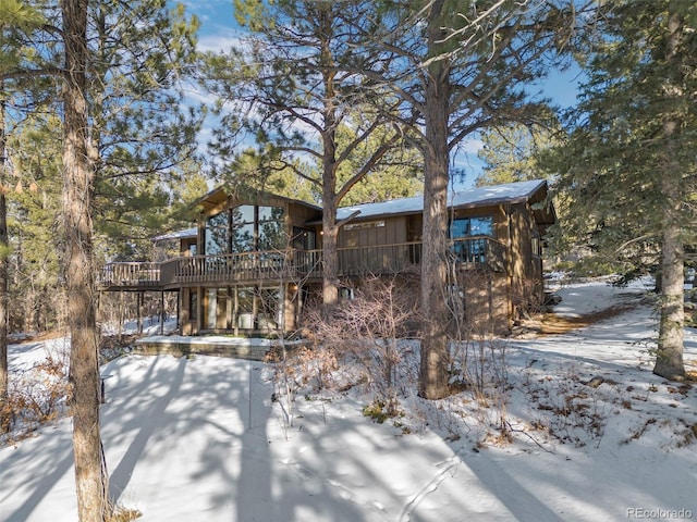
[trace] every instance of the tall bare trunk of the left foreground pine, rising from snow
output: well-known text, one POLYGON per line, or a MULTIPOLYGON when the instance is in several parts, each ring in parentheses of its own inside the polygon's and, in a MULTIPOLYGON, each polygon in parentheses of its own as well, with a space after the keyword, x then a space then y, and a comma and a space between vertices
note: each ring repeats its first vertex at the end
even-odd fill
POLYGON ((87 0, 62 0, 65 44, 63 129, 64 273, 71 333, 73 450, 81 522, 107 517, 108 485, 99 423, 99 361, 95 315, 91 190, 85 99, 87 0))

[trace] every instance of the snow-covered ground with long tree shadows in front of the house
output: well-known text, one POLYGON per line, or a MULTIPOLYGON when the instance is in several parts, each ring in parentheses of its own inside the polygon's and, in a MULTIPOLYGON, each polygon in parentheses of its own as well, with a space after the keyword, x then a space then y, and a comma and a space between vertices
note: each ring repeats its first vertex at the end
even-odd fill
MULTIPOLYGON (((695 519, 697 389, 651 373, 657 319, 643 291, 561 286, 563 314, 636 307, 506 340, 505 408, 407 390, 404 415, 382 424, 362 414, 360 386, 301 391, 290 425, 261 363, 115 359, 102 369, 111 493, 157 522, 695 519)), ((695 371, 697 331, 685 332, 695 371)), ((13 345, 11 365, 46 350, 13 345)), ((0 448, 2 521, 75 513, 70 419, 0 448)))

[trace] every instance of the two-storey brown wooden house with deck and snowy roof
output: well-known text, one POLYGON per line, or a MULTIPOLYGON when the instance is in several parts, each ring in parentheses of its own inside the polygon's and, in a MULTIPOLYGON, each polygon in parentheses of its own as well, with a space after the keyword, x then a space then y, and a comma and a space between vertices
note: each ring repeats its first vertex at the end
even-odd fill
MULTIPOLYGON (((505 333, 543 299, 542 236, 554 223, 545 181, 470 188, 449 201, 453 288, 473 322, 505 333)), ((321 294, 322 209, 281 196, 217 188, 200 200, 197 227, 157 241, 179 252, 150 263, 109 263, 105 291, 172 291, 183 335, 294 331, 321 294)), ((339 275, 350 298, 368 275, 415 286, 421 252, 423 198, 342 208, 339 275)), ((415 297, 417 299, 417 297, 415 297)))

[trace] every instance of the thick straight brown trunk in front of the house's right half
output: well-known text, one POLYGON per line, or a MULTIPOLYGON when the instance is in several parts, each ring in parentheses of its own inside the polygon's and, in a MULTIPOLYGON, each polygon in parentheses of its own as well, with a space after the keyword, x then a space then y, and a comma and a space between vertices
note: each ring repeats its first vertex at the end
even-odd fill
MULTIPOLYGON (((442 1, 431 5, 429 16, 430 55, 438 55, 442 41, 440 12, 442 1)), ((449 64, 435 60, 429 66, 426 87, 426 146, 424 150, 424 233, 421 252, 423 338, 419 369, 419 395, 439 399, 450 393, 448 384, 449 348, 445 302, 448 273, 448 101, 449 64)))

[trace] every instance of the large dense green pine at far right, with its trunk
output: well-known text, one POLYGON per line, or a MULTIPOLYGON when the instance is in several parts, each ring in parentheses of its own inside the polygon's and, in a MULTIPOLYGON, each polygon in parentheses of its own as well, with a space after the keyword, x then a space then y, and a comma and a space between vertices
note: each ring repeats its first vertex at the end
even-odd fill
POLYGON ((622 261, 626 278, 658 266, 660 332, 655 373, 684 378, 684 245, 695 244, 697 7, 624 1, 602 18, 585 58, 589 80, 562 187, 572 234, 622 261))

